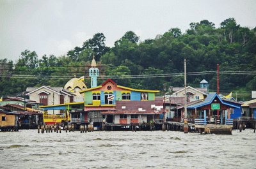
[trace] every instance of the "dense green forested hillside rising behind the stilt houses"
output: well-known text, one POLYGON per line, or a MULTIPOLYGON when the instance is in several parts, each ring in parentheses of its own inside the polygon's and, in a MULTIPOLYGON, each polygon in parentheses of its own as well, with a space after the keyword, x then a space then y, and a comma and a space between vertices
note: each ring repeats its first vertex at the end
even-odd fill
MULTIPOLYGON (((189 26, 185 33, 171 28, 145 41, 128 31, 114 47, 106 47, 104 34, 96 33, 81 47, 58 57, 24 50, 17 62, 0 60, 0 96, 23 92, 26 87, 63 87, 74 75, 88 77, 94 54, 100 70, 98 84, 112 78, 119 85, 138 89, 182 87, 187 59, 188 85, 198 87, 205 79, 209 90, 216 91, 219 63, 220 92, 237 92, 240 100, 250 99, 250 92, 256 90, 256 27, 239 26, 234 18, 220 26, 208 20, 189 26)), ((90 87, 90 78, 85 80, 90 87)))

